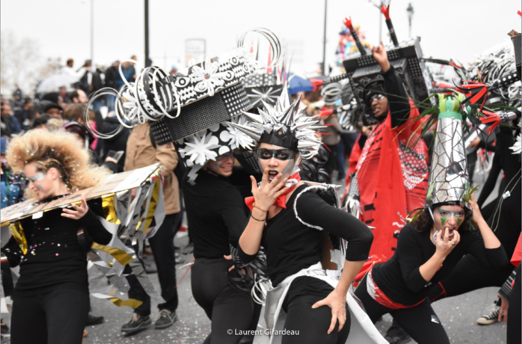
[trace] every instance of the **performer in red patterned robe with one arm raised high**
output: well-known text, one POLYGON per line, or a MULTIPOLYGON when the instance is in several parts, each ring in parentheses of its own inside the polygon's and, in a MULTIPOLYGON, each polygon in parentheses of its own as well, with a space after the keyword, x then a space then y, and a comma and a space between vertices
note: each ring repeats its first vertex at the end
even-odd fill
POLYGON ((375 228, 370 253, 389 258, 407 212, 423 206, 428 149, 419 139, 420 122, 413 120, 419 111, 390 65, 382 42, 372 48, 372 55, 382 75, 365 86, 364 101, 378 123, 364 143, 355 171, 361 220, 375 228))

